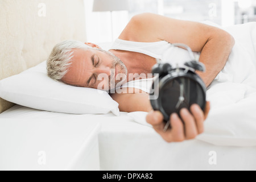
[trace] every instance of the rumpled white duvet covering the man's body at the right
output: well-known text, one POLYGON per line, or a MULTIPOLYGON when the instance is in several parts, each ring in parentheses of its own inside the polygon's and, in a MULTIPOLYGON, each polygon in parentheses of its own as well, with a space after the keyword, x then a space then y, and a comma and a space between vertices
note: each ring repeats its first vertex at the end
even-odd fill
POLYGON ((256 22, 225 28, 236 39, 207 91, 212 110, 197 137, 221 146, 256 146, 256 22))

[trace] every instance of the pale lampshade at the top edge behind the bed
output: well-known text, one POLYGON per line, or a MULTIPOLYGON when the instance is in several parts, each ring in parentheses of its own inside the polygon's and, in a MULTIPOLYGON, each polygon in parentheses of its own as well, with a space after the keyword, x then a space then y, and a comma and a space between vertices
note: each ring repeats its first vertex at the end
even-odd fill
POLYGON ((129 10, 127 0, 94 0, 93 11, 129 10))

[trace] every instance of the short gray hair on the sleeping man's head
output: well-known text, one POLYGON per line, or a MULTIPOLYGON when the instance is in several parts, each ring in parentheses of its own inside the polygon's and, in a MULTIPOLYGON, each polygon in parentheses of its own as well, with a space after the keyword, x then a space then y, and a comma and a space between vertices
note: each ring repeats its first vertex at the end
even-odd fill
POLYGON ((71 65, 71 59, 73 57, 72 49, 89 48, 90 46, 76 40, 65 40, 56 44, 47 59, 47 75, 53 80, 61 81, 71 65))

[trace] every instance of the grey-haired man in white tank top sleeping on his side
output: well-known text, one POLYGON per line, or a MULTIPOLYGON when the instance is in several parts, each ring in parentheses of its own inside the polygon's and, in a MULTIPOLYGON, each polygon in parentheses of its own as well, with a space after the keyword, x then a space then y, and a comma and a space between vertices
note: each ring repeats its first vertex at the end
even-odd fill
MULTIPOLYGON (((204 63, 206 71, 198 74, 209 86, 224 68, 234 38, 228 32, 207 24, 150 13, 139 14, 130 20, 109 51, 93 43, 73 40, 57 44, 47 61, 48 76, 73 86, 110 90, 113 79, 114 86, 117 86, 120 81, 122 84, 136 81, 138 75, 147 78, 156 58, 159 59, 172 43, 183 43, 192 51, 200 52, 199 61, 204 63), (109 79, 102 79, 102 75, 109 79)), ((126 89, 128 92, 110 93, 118 102, 119 110, 147 111, 147 122, 167 142, 193 139, 203 133, 209 102, 204 111, 194 104, 190 110, 181 109, 180 118, 176 113, 172 114, 172 128, 164 131, 163 115, 152 110, 147 90, 133 86, 126 89)))

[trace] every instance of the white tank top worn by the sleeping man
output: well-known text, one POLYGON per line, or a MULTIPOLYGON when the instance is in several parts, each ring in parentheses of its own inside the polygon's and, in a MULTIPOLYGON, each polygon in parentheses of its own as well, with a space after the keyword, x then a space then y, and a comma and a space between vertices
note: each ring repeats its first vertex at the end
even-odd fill
MULTIPOLYGON (((183 65, 185 61, 191 60, 186 49, 174 47, 165 40, 148 43, 117 39, 110 49, 143 53, 159 59, 161 63, 170 63, 173 66, 183 65)), ((196 59, 199 58, 199 53, 194 52, 194 55, 196 59)), ((154 81, 154 77, 129 81, 123 84, 122 88, 137 88, 150 93, 152 81, 154 81)))

